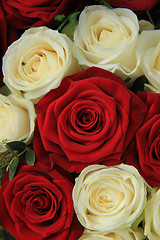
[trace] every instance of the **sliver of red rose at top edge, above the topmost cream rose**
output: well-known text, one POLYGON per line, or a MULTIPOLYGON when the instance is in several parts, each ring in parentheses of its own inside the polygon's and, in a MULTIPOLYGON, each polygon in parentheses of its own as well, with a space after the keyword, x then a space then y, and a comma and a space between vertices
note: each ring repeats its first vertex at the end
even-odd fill
POLYGON ((159 0, 107 0, 116 7, 130 8, 135 11, 150 10, 159 0))

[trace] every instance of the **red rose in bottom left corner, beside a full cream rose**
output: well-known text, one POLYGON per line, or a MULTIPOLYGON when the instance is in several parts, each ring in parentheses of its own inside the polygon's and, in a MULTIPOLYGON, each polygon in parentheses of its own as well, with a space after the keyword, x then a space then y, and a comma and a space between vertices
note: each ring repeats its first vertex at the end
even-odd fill
POLYGON ((0 188, 0 224, 17 240, 77 240, 83 228, 74 213, 73 184, 40 163, 23 165, 0 188))

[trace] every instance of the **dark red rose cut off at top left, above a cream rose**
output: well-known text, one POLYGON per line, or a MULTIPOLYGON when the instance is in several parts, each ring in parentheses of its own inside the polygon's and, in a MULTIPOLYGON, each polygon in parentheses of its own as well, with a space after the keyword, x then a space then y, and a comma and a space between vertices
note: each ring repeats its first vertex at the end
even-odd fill
POLYGON ((42 25, 52 26, 57 14, 68 15, 84 0, 2 0, 9 24, 14 28, 26 29, 42 25))

